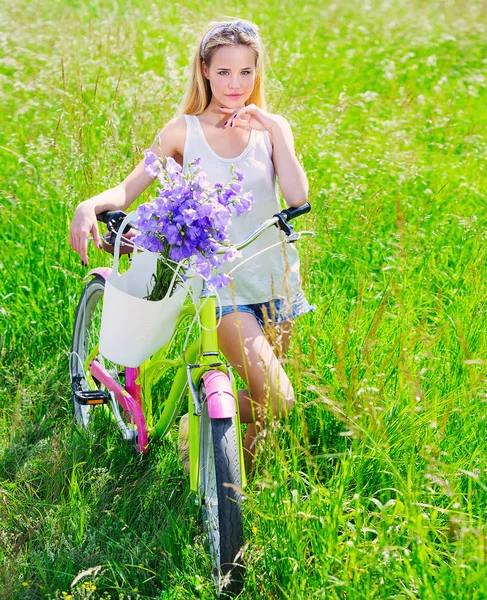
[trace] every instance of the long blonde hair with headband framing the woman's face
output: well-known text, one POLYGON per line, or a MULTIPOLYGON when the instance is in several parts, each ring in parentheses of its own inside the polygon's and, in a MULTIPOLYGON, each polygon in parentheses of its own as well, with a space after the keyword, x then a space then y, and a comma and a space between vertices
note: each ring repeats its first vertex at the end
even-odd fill
POLYGON ((264 48, 257 25, 251 21, 235 19, 210 23, 201 37, 191 62, 188 85, 179 108, 179 114, 199 115, 210 104, 210 82, 203 75, 203 62, 209 67, 213 56, 222 46, 248 46, 255 56, 254 89, 245 103, 266 108, 264 94, 264 48))

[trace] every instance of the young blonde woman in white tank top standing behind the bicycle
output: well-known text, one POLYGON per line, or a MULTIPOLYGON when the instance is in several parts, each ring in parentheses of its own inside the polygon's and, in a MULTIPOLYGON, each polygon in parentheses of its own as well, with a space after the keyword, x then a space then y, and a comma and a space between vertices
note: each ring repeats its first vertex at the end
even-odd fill
MULTIPOLYGON (((158 155, 173 157, 184 171, 199 157, 211 184, 225 182, 232 165, 244 173, 243 191, 253 192, 254 204, 233 219, 229 232, 235 243, 279 212, 276 175, 289 206, 304 204, 308 195, 291 128, 284 117, 266 112, 263 81, 257 27, 243 20, 212 23, 193 58, 181 114, 162 129, 151 147, 158 155)), ((141 161, 120 185, 78 205, 70 244, 84 265, 90 233, 100 247, 96 214, 126 209, 152 181, 141 161)), ((276 245, 281 239, 279 230, 272 228, 247 247, 237 262, 274 244, 237 268, 231 284, 219 291, 219 345, 248 386, 239 395, 241 420, 249 424, 247 467, 268 412, 279 418, 293 406, 293 387, 279 358, 287 352, 292 319, 311 310, 301 291, 297 251, 291 244, 276 245)))

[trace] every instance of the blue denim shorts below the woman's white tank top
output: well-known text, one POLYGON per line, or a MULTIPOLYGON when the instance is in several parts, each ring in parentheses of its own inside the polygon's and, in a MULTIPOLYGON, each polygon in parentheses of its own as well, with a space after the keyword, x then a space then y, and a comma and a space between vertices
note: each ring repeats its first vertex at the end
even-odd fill
POLYGON ((280 325, 285 321, 291 321, 316 310, 305 298, 303 292, 299 292, 290 303, 288 300, 276 298, 268 302, 257 304, 237 304, 217 307, 216 318, 224 317, 230 313, 246 312, 254 315, 259 325, 264 329, 267 324, 280 325))

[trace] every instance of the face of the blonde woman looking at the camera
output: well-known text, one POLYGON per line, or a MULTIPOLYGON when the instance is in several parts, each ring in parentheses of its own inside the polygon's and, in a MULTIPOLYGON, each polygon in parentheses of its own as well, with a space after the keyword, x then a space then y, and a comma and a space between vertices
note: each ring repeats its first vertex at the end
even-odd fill
POLYGON ((212 103, 225 108, 240 108, 254 89, 254 52, 242 44, 221 46, 213 54, 211 66, 203 63, 203 75, 210 82, 212 103))

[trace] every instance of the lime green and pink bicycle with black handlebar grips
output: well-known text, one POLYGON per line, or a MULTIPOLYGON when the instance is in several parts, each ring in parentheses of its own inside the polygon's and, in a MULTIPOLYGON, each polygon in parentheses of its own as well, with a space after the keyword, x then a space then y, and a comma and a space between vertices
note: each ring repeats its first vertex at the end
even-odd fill
MULTIPOLYGON (((309 232, 295 232, 289 221, 310 208, 306 203, 274 215, 237 244, 237 249, 273 226, 284 232, 284 241, 297 241, 309 232)), ((109 237, 104 239, 114 248, 116 261, 122 240, 125 251, 131 250, 125 234, 134 214, 109 211, 97 215, 107 224, 109 237)), ((140 366, 126 367, 110 363, 99 352, 100 313, 110 273, 107 267, 90 271, 76 311, 70 357, 74 421, 89 427, 94 409, 103 406, 123 439, 146 453, 149 440, 168 433, 189 390, 190 488, 201 503, 217 588, 238 593, 243 585, 242 490, 246 477, 236 383, 218 348, 216 294, 203 282, 198 300, 183 305, 169 341, 140 366), (199 335, 189 344, 195 323, 199 335), (163 402, 157 402, 153 390, 173 369, 176 374, 169 392, 163 402)))

